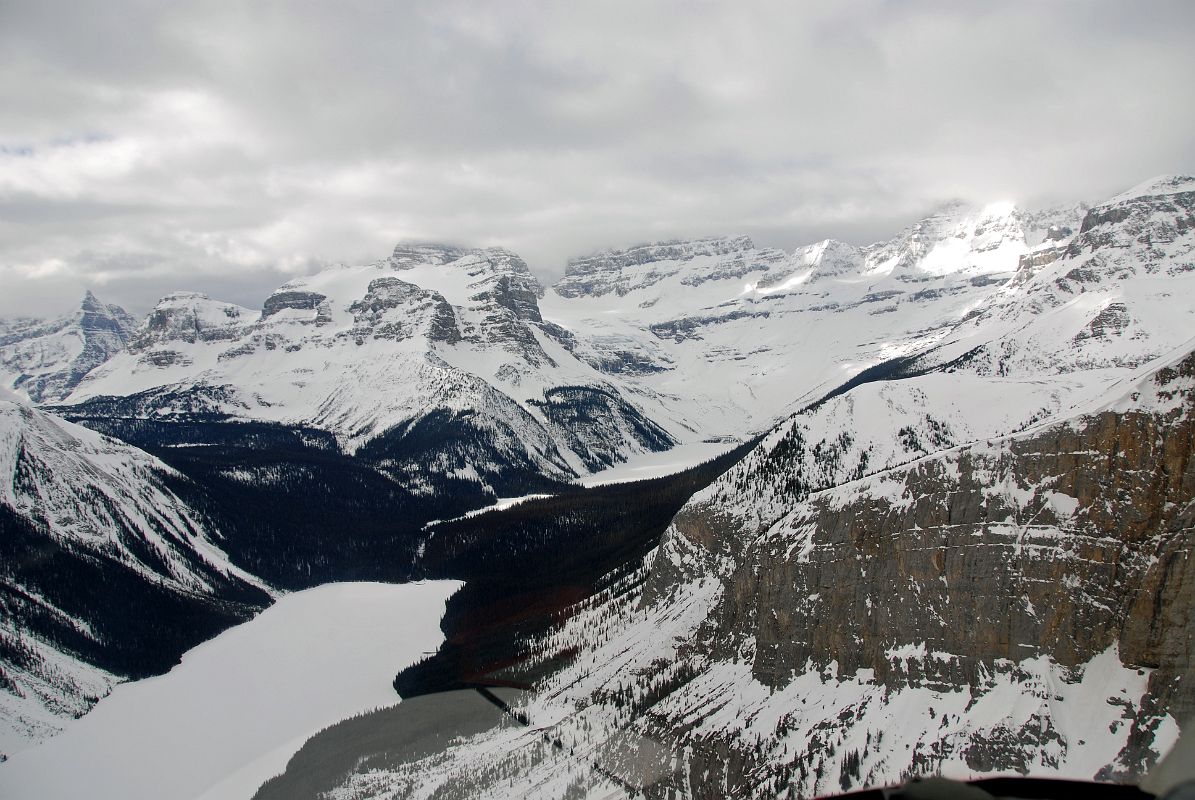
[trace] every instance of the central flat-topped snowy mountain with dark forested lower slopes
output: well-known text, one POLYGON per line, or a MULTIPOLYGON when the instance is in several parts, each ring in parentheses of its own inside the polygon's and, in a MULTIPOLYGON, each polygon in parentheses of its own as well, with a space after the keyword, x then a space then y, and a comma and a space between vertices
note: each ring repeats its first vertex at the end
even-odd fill
POLYGON ((310 426, 410 486, 418 472, 565 481, 670 446, 657 407, 644 410, 543 322, 541 292, 504 250, 399 246, 292 281, 261 312, 173 294, 69 403, 310 426))

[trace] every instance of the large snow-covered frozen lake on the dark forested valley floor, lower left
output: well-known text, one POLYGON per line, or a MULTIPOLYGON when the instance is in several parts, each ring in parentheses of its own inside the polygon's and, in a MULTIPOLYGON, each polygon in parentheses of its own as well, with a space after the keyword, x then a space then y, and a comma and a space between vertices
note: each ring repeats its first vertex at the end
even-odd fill
POLYGON ((398 702, 394 673, 443 641, 440 618, 459 586, 329 584, 284 596, 0 764, 0 796, 246 800, 315 732, 398 702))

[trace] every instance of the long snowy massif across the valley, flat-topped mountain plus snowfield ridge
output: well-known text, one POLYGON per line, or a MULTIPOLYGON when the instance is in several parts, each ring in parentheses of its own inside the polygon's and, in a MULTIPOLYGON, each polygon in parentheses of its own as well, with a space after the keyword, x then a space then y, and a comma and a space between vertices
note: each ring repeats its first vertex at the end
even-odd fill
POLYGON ((1078 213, 955 204, 890 242, 793 254, 644 245, 576 259, 546 292, 505 250, 399 245, 261 311, 164 298, 65 413, 311 427, 410 488, 529 490, 768 428, 945 336, 1078 213))

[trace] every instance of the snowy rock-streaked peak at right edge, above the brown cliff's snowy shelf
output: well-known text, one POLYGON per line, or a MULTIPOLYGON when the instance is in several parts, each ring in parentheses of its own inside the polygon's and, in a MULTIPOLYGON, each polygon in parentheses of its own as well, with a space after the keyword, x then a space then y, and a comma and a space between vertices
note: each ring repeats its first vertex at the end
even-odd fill
POLYGON ((1147 181, 1023 259, 925 364, 998 375, 1135 367, 1193 330, 1195 178, 1147 181))

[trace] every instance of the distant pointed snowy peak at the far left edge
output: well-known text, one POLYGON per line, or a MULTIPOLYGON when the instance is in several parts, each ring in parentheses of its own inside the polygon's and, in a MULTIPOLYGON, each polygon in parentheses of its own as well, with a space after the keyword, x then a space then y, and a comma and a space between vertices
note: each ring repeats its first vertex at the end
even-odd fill
POLYGON ((35 403, 60 401, 124 348, 136 320, 87 292, 57 319, 0 319, 0 385, 35 403))

